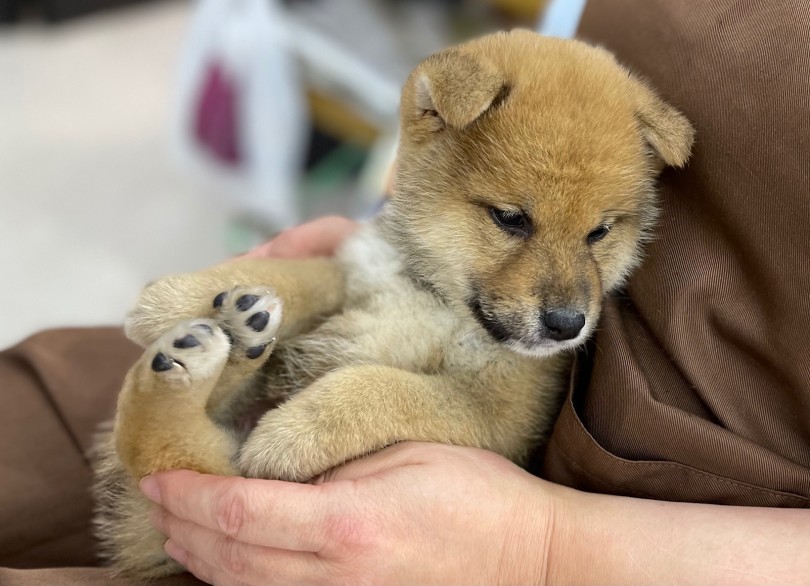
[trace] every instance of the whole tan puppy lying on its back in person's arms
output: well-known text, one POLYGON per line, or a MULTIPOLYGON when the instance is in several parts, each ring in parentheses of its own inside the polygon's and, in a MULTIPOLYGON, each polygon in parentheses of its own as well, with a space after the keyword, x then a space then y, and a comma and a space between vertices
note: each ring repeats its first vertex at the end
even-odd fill
POLYGON ((524 462, 693 136, 606 51, 526 31, 424 61, 401 130, 390 202, 336 258, 235 261, 141 294, 126 325, 146 351, 97 465, 118 570, 182 570, 137 489, 158 470, 304 482, 404 440, 524 462), (243 433, 257 398, 279 405, 243 433))

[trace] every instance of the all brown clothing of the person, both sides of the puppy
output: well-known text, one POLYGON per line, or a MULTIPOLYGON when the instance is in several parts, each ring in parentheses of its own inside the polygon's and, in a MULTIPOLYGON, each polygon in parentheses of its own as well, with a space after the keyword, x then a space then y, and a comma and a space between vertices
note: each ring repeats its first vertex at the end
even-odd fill
MULTIPOLYGON (((810 505, 810 5, 590 0, 583 36, 698 135, 658 237, 578 357, 543 474, 656 499, 810 505)), ((94 564, 97 421, 138 355, 117 329, 0 354, 0 584, 129 584, 94 564)), ((175 576, 162 586, 196 584, 175 576)))

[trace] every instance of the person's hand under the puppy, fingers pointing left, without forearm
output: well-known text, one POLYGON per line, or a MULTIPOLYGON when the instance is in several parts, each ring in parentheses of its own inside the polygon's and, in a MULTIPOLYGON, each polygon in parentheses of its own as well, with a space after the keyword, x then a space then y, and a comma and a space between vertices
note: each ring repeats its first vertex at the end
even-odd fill
POLYGON ((553 490, 493 453, 403 443, 313 485, 145 478, 166 552, 217 586, 537 584, 553 490))

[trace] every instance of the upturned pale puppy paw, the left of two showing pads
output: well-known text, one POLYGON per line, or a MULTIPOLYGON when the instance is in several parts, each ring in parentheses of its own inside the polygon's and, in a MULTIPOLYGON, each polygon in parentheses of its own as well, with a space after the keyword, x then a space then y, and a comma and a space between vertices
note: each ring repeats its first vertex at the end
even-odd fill
POLYGON ((180 323, 146 351, 153 377, 191 385, 219 376, 228 360, 230 342, 215 322, 195 319, 180 323))

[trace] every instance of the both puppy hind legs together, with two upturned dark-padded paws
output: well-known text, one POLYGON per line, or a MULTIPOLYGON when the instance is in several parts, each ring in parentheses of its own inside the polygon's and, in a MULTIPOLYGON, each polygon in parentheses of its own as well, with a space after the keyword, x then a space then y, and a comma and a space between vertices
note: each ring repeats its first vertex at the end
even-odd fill
POLYGON ((231 475, 238 441, 210 417, 233 409, 272 352, 281 303, 266 290, 237 287, 211 301, 214 319, 188 320, 152 343, 127 375, 114 431, 98 446, 97 535, 120 572, 151 578, 183 571, 149 523, 143 476, 188 468, 231 475))

